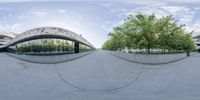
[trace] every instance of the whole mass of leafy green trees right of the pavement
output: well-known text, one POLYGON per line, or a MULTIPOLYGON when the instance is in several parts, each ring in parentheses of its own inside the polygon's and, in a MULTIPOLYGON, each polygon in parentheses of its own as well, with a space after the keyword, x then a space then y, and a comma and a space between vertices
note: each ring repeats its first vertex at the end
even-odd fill
POLYGON ((178 25, 173 16, 156 18, 154 14, 138 13, 125 19, 122 26, 114 28, 109 33, 102 49, 122 50, 145 49, 151 53, 153 49, 161 49, 162 53, 192 51, 195 43, 191 33, 184 29, 185 25, 178 25))

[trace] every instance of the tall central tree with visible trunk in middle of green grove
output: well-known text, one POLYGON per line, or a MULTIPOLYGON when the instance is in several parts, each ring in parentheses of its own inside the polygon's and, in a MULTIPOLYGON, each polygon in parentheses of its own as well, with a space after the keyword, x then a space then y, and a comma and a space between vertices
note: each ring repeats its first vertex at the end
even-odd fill
POLYGON ((150 53, 150 49, 156 45, 155 22, 156 17, 154 14, 149 16, 144 14, 137 14, 135 17, 131 16, 127 21, 132 22, 135 27, 136 36, 135 42, 139 48, 146 48, 150 53))

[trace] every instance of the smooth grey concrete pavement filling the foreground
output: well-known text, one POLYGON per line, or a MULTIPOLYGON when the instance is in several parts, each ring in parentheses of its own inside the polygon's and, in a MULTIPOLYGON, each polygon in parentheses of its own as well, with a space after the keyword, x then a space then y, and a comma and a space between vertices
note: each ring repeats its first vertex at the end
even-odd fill
POLYGON ((200 54, 163 65, 104 51, 58 64, 0 54, 0 100, 199 100, 200 54))

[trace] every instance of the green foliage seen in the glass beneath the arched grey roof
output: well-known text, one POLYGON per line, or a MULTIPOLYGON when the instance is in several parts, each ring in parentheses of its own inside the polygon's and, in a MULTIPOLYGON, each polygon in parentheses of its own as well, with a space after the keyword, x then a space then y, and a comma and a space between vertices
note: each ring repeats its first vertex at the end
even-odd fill
MULTIPOLYGON (((92 48, 85 46, 83 44, 79 44, 79 51, 80 52, 86 52, 90 51, 92 48)), ((68 52, 73 53, 74 52, 74 44, 70 42, 63 42, 59 39, 53 40, 53 39, 47 39, 42 42, 29 42, 29 43, 22 43, 21 45, 18 45, 16 48, 16 51, 19 53, 40 53, 40 52, 47 52, 47 53, 53 53, 53 52, 68 52)))

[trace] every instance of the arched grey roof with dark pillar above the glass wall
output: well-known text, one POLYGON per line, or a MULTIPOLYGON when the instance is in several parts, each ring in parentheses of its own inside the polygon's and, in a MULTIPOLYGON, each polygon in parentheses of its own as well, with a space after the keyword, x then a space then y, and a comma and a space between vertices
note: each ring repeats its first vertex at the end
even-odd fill
POLYGON ((34 28, 31 30, 25 31, 17 35, 7 44, 1 45, 0 49, 1 51, 5 51, 6 48, 8 48, 9 46, 13 46, 15 44, 30 41, 30 40, 44 39, 44 38, 55 38, 55 39, 64 39, 64 40, 73 41, 74 47, 75 47, 75 53, 79 52, 80 43, 90 48, 95 49, 95 47, 91 43, 89 43, 86 39, 84 39, 82 36, 78 35, 77 33, 72 32, 67 29, 58 28, 58 27, 40 27, 40 28, 34 28))

